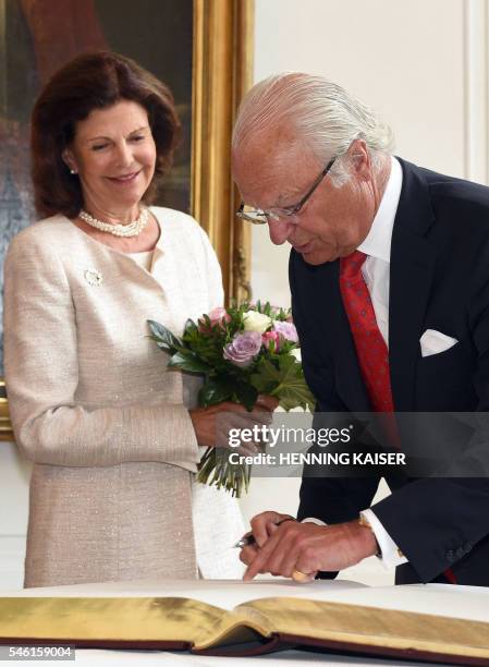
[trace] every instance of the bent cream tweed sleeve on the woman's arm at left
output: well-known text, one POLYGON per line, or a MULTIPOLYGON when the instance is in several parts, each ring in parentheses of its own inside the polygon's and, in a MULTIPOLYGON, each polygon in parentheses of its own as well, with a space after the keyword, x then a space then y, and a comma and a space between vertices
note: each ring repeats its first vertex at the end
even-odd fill
POLYGON ((76 314, 66 276, 48 243, 22 233, 4 269, 5 379, 16 442, 51 465, 131 461, 196 470, 198 446, 183 404, 90 407, 75 400, 76 314))

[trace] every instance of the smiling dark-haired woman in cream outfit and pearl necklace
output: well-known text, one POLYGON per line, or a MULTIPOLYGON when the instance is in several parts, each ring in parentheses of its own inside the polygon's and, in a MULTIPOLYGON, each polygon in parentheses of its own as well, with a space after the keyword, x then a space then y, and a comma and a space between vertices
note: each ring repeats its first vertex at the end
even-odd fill
POLYGON ((230 405, 196 409, 198 379, 167 372, 146 324, 180 333, 223 296, 197 222, 145 205, 178 130, 168 88, 107 52, 65 65, 34 109, 45 219, 13 240, 4 295, 11 419, 35 463, 26 586, 242 573, 234 499, 193 481, 230 405))

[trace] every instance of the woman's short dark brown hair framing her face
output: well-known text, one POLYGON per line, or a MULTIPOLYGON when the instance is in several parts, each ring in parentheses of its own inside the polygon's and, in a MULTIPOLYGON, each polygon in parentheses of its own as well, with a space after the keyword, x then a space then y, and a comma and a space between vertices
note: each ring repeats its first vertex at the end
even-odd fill
POLYGON ((63 150, 75 135, 76 123, 94 109, 126 99, 148 113, 156 144, 155 177, 144 201, 149 202, 171 165, 181 125, 173 96, 163 83, 134 60, 97 51, 74 58, 46 84, 32 117, 32 173, 35 203, 41 216, 75 218, 83 207, 80 179, 70 173, 63 150))

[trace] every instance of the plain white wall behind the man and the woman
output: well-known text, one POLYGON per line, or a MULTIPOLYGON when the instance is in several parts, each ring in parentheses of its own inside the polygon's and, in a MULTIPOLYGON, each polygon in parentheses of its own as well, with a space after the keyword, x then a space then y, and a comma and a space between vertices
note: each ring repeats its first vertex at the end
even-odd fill
MULTIPOLYGON (((319 72, 375 107, 406 159, 485 182, 488 174, 487 0, 256 0, 255 80, 319 72)), ((286 305, 289 250, 254 229, 256 298, 286 305)), ((0 589, 21 585, 26 469, 0 442, 0 589)), ((258 480, 247 516, 294 512, 297 480, 258 480)), ((377 563, 346 577, 384 581, 377 563)))

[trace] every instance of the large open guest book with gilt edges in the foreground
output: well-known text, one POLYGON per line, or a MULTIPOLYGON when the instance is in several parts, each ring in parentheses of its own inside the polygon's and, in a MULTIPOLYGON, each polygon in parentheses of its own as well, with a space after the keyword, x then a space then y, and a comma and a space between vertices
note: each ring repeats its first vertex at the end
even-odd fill
POLYGON ((28 589, 0 597, 0 644, 257 655, 316 647, 489 665, 489 589, 180 581, 28 589))

